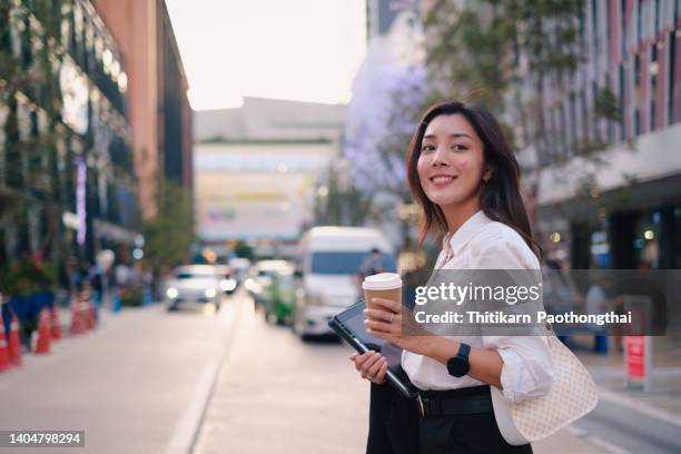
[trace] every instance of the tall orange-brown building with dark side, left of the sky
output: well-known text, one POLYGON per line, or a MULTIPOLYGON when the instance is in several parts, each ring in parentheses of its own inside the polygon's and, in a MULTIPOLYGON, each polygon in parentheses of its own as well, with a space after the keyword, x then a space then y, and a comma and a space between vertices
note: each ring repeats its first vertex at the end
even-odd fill
POLYGON ((126 62, 135 174, 142 217, 156 214, 158 177, 193 190, 188 82, 164 0, 95 0, 126 62))

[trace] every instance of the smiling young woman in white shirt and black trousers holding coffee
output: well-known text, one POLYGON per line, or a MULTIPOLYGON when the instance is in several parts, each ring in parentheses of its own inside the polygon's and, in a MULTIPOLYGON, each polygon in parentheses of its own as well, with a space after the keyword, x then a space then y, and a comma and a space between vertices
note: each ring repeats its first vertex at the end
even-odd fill
MULTIPOLYGON (((423 208, 421 241, 443 234, 435 268, 539 269, 520 194, 517 161, 495 118, 462 102, 432 107, 412 139, 412 194, 423 208)), ((403 336, 402 305, 374 300, 367 329, 404 349, 402 366, 428 403, 402 399, 384 385, 379 353, 354 354, 373 383, 368 454, 531 453, 507 444, 496 425, 490 386, 510 402, 545 394, 552 383, 550 347, 541 336, 403 336)))

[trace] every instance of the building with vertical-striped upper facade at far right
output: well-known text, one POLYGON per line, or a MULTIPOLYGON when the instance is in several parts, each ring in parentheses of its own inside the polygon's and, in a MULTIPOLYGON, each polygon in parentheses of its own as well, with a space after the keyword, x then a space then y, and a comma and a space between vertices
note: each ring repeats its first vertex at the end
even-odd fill
POLYGON ((566 89, 546 80, 537 214, 574 268, 681 267, 680 24, 679 1, 585 1, 586 58, 566 89), (603 90, 619 120, 593 120, 603 90), (584 157, 594 137, 610 146, 584 157))

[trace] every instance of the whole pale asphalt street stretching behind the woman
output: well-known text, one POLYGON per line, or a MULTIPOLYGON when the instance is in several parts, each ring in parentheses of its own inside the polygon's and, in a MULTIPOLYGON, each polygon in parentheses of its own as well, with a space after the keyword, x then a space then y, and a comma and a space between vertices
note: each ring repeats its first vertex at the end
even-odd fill
MULTIPOLYGON (((368 387, 349 348, 267 325, 240 292, 218 314, 161 305, 107 314, 100 328, 53 347, 0 377, 2 430, 83 430, 78 453, 364 451, 368 387)), ((601 408, 535 453, 622 452, 590 435, 593 424, 616 425, 601 408)), ((638 446, 653 436, 636 434, 638 446)))

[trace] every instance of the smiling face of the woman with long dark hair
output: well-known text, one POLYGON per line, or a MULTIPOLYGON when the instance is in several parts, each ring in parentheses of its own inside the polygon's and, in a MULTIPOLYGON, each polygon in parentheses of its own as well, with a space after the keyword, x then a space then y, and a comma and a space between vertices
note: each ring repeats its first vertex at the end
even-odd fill
POLYGON ((483 142, 463 115, 441 115, 425 130, 416 168, 431 201, 441 207, 461 205, 478 197, 483 142))

